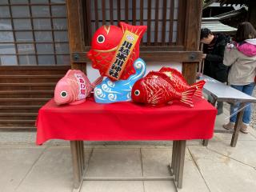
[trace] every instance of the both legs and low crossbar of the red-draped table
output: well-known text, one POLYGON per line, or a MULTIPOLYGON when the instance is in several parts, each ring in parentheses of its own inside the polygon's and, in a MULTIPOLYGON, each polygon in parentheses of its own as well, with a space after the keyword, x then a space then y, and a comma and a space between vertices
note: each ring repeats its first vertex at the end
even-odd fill
POLYGON ((173 142, 171 164, 168 165, 171 174, 169 177, 86 177, 86 162, 83 141, 70 141, 70 149, 74 174, 73 192, 79 192, 81 190, 83 181, 174 181, 176 190, 182 188, 186 140, 178 140, 173 142))

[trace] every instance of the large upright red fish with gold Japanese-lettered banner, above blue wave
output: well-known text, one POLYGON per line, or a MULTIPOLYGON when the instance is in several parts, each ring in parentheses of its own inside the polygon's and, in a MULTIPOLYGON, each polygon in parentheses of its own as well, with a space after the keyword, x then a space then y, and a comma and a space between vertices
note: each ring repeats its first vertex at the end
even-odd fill
POLYGON ((133 63, 139 56, 139 43, 146 26, 101 26, 94 33, 87 56, 94 69, 112 81, 126 80, 135 74, 133 63))

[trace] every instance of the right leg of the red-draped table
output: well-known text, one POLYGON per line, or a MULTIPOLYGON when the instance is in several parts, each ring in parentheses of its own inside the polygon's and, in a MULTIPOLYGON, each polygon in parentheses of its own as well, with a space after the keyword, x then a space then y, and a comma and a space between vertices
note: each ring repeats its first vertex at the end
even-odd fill
POLYGON ((176 188, 182 188, 186 140, 174 141, 170 170, 174 175, 176 188))

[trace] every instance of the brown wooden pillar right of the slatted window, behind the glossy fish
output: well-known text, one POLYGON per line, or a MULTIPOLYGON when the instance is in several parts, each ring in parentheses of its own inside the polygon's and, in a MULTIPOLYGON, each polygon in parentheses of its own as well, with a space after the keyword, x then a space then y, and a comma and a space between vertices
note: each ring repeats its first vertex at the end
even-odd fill
MULTIPOLYGON (((185 14, 185 13, 184 13, 185 14)), ((199 50, 200 30, 202 18, 202 1, 187 0, 186 1, 186 22, 185 22, 185 50, 199 50)), ((191 55, 193 57, 193 55, 191 55)), ((201 55, 202 59, 202 55, 201 55)), ((183 62, 182 74, 189 84, 196 80, 198 62, 183 62)))

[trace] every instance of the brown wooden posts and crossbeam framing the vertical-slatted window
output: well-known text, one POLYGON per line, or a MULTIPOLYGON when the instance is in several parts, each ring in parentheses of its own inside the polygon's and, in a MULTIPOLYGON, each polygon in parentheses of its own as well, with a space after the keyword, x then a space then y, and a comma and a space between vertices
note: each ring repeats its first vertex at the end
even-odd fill
MULTIPOLYGON (((178 23, 178 33, 181 32, 181 34, 178 34, 177 41, 183 44, 182 50, 178 50, 178 46, 169 51, 145 50, 141 56, 146 58, 146 62, 182 62, 182 74, 191 84, 196 79, 198 62, 202 61, 202 52, 199 50, 202 0, 179 0, 179 5, 182 5, 179 9, 186 14, 186 17, 180 18, 185 25, 178 23)), ((86 72, 86 62, 89 60, 86 59, 86 50, 84 50, 82 0, 66 0, 66 6, 71 68, 86 72)))

